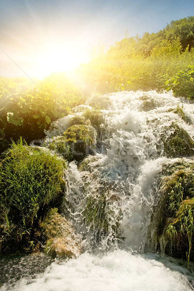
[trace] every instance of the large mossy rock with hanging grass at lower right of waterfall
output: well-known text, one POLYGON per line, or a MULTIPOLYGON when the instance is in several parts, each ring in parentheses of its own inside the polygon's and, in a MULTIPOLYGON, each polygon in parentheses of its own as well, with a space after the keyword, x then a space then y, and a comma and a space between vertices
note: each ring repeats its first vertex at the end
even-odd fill
POLYGON ((147 250, 194 258, 194 161, 179 159, 163 167, 160 200, 153 210, 147 250))

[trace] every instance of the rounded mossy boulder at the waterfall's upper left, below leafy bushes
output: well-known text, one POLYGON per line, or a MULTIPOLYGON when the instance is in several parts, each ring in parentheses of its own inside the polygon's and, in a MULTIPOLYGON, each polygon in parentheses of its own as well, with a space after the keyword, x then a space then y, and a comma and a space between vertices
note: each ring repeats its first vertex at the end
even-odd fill
POLYGON ((73 125, 67 129, 63 136, 71 146, 73 158, 80 161, 89 153, 93 153, 96 144, 96 130, 90 125, 73 125))

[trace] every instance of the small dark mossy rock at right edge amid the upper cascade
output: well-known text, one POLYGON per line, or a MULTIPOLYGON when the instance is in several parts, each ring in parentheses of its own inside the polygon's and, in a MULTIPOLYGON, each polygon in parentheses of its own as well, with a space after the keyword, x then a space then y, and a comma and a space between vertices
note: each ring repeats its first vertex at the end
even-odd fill
POLYGON ((170 130, 170 135, 163 138, 166 156, 176 158, 194 155, 194 141, 189 133, 175 123, 171 125, 170 130))

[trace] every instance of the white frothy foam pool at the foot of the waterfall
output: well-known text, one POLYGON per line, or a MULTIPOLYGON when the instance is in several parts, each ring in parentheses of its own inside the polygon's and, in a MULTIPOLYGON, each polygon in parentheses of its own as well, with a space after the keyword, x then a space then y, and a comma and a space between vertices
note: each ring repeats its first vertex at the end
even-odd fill
MULTIPOLYGON (((171 263, 172 269, 176 266, 171 263)), ((52 263, 31 284, 20 280, 10 291, 191 291, 179 267, 170 270, 154 255, 142 257, 118 250, 104 256, 82 254, 52 263)), ((5 291, 6 286, 1 288, 5 291)))

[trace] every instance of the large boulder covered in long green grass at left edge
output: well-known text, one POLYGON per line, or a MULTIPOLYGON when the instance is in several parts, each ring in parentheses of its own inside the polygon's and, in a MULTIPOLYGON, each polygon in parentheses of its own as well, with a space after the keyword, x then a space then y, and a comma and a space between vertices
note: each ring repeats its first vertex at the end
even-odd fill
POLYGON ((1 251, 31 251, 41 220, 62 201, 66 165, 45 148, 13 144, 0 165, 1 251))

